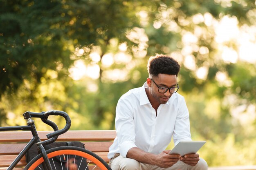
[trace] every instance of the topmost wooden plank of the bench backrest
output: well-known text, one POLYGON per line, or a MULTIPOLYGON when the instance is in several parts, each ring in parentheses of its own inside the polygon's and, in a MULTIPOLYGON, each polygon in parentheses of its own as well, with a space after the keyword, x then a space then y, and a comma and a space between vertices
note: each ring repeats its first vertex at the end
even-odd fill
MULTIPOLYGON (((46 140, 46 135, 52 131, 38 131, 41 140, 46 140)), ((28 142, 31 138, 30 131, 8 131, 0 132, 0 142, 28 142)), ((57 141, 110 141, 116 137, 116 131, 67 131, 60 135, 57 141)))

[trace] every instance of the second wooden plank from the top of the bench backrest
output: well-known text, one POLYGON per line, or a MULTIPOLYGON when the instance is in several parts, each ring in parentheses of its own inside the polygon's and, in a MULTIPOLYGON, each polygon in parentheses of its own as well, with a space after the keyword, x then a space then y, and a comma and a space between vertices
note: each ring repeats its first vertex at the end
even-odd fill
MULTIPOLYGON (((92 152, 108 152, 113 142, 83 142, 92 152)), ((0 144, 0 155, 18 155, 26 144, 0 144)))

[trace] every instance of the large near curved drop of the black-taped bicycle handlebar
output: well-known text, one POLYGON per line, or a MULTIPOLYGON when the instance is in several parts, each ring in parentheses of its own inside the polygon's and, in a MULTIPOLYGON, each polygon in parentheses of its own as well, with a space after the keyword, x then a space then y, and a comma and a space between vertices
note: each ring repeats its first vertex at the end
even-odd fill
POLYGON ((43 114, 46 118, 50 115, 55 115, 55 116, 62 116, 65 118, 66 120, 66 126, 61 129, 61 130, 58 130, 58 131, 55 131, 55 132, 52 132, 52 133, 49 133, 46 135, 46 137, 49 139, 49 138, 52 138, 52 137, 55 137, 55 136, 58 136, 58 135, 61 135, 65 132, 68 131, 68 129, 70 129, 70 126, 71 126, 71 120, 70 120, 70 117, 68 116, 68 114, 64 111, 58 111, 58 110, 50 110, 50 111, 47 111, 43 114))

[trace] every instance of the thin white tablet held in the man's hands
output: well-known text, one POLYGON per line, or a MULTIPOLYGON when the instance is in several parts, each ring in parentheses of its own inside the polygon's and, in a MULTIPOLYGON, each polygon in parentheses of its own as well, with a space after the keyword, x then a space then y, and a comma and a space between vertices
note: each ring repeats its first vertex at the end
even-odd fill
POLYGON ((169 154, 179 154, 184 156, 197 151, 205 144, 206 141, 180 141, 169 154))

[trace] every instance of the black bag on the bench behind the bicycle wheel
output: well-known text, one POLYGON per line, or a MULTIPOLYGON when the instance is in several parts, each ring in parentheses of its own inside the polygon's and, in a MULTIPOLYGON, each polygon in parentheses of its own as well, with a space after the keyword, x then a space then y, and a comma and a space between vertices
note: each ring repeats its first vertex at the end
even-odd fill
MULTIPOLYGON (((73 141, 73 142, 53 142, 52 144, 49 144, 49 145, 45 145, 44 148, 45 150, 49 150, 51 148, 56 148, 56 147, 59 147, 59 146, 76 146, 76 147, 80 147, 80 148, 84 148, 84 144, 82 142, 79 142, 79 141, 73 141)), ((40 151, 38 150, 36 144, 34 144, 33 146, 31 146, 31 148, 29 148, 29 150, 27 151, 26 153, 26 162, 29 163, 29 161, 31 161, 31 159, 33 159, 34 157, 36 157, 38 154, 40 153, 40 151)), ((79 156, 76 156, 76 161, 74 162, 74 155, 70 155, 68 157, 68 159, 63 159, 63 157, 54 157, 53 159, 50 159, 50 163, 52 165, 52 167, 54 167, 53 169, 57 169, 57 170, 60 170, 60 169, 67 169, 67 160, 69 160, 69 163, 70 161, 72 161, 72 165, 74 165, 75 163, 75 166, 79 167, 87 167, 87 161, 86 159, 83 158, 82 160, 82 157, 79 157, 79 156), (82 163, 81 163, 82 161, 82 163), (81 163, 81 165, 80 165, 81 163)), ((70 163, 71 164, 71 163, 70 163)), ((42 170, 44 170, 43 166, 40 165, 40 168, 42 170)), ((40 170, 40 168, 36 168, 35 170, 40 170)), ((70 169, 70 168, 68 168, 70 169)), ((87 167, 86 170, 89 170, 89 168, 87 167)))

